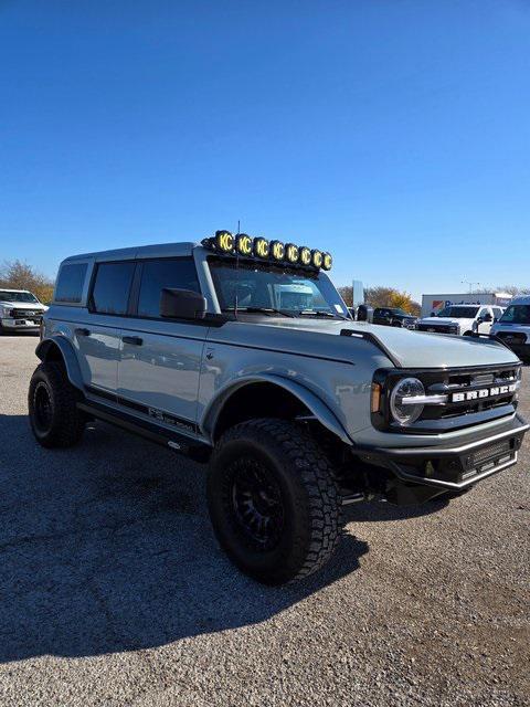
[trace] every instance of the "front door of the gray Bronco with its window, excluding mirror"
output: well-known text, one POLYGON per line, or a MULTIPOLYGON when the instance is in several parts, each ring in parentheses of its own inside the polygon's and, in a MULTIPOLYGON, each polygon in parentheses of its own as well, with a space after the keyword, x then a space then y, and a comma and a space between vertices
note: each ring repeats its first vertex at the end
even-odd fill
POLYGON ((138 262, 132 316, 119 333, 118 400, 168 424, 194 429, 208 326, 162 319, 163 287, 200 292, 193 258, 138 262))

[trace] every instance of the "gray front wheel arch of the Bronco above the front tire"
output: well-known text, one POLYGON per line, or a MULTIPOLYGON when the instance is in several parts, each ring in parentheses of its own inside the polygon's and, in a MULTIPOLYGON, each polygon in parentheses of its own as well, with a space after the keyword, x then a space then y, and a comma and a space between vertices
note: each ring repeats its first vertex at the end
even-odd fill
POLYGON ((201 429, 215 443, 227 428, 245 420, 293 419, 299 414, 314 416, 341 442, 352 444, 342 424, 320 398, 295 381, 271 374, 240 378, 222 388, 204 411, 201 429))

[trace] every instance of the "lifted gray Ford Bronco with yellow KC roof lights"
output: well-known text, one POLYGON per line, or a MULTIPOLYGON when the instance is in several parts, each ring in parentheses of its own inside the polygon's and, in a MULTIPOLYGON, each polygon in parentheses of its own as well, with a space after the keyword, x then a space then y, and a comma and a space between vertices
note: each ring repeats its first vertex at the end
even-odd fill
POLYGON ((29 391, 38 442, 97 419, 209 462, 220 545, 271 584, 328 560, 344 504, 455 496, 515 464, 519 359, 353 321, 331 265, 227 231, 66 258, 29 391))

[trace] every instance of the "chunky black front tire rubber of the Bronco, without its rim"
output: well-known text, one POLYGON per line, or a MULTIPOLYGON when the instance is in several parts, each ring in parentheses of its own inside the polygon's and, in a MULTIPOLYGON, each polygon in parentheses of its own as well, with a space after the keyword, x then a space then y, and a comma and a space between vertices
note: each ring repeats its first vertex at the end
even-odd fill
POLYGON ((328 457, 293 422, 261 419, 227 430, 208 475, 208 505, 216 538, 243 572, 265 584, 284 584, 320 569, 337 548, 341 499, 328 457), (242 531, 230 492, 233 468, 259 464, 280 490, 283 525, 277 545, 257 548, 242 531))

